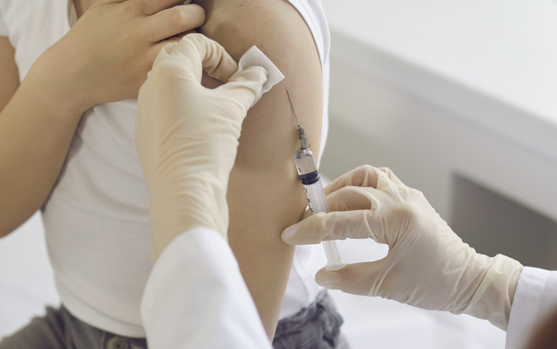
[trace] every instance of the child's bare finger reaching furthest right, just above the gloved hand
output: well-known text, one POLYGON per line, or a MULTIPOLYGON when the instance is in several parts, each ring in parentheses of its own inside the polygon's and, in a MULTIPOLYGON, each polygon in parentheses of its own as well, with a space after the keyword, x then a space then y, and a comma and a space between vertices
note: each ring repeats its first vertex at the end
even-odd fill
POLYGON ((196 4, 180 5, 146 17, 143 20, 146 38, 158 42, 165 38, 187 32, 205 22, 205 11, 196 4))

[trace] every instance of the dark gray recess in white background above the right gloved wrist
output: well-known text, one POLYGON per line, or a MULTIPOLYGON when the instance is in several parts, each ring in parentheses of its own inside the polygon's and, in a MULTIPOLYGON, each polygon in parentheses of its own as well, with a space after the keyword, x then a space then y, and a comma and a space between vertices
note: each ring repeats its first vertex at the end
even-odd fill
POLYGON ((452 188, 449 223, 476 251, 557 270, 557 222, 461 176, 452 188))

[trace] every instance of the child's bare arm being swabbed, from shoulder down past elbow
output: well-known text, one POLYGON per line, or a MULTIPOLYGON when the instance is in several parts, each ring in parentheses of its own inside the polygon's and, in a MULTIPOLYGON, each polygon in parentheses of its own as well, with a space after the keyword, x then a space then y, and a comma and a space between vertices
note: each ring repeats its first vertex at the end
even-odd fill
MULTIPOLYGON (((323 118, 319 56, 303 18, 285 0, 198 3, 207 14, 201 33, 236 60, 256 45, 285 75, 248 112, 228 187, 229 243, 272 338, 294 254, 280 235, 306 207, 292 159, 300 145, 286 88, 317 156, 323 118)), ((207 79, 204 84, 211 85, 207 79)))

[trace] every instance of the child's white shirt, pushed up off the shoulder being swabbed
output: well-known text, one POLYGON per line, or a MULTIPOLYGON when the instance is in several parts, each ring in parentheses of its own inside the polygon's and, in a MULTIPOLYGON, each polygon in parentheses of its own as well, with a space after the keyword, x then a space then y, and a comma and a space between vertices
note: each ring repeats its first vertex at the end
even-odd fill
MULTIPOLYGON (((314 37, 323 69, 328 130, 329 30, 318 0, 289 0, 314 37)), ((75 22, 68 0, 0 0, 0 35, 16 49, 20 79, 75 22), (69 11, 70 9, 70 11, 69 11)), ((43 208, 48 253, 62 303, 82 321, 143 337, 139 304, 152 261, 148 192, 134 147, 136 100, 101 104, 82 116, 67 161, 43 208)), ((281 318, 309 305, 325 264, 321 247, 298 246, 281 318)))

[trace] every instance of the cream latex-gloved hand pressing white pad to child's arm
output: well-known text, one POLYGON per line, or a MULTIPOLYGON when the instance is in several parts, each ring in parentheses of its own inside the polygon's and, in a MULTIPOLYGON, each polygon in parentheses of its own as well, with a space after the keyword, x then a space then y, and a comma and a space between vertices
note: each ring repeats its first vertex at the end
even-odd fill
POLYGON ((217 42, 188 34, 164 46, 139 90, 135 148, 149 190, 155 259, 192 227, 226 238, 228 177, 242 122, 267 80, 262 67, 233 75, 237 69, 217 42), (228 83, 204 88, 202 70, 228 83))

